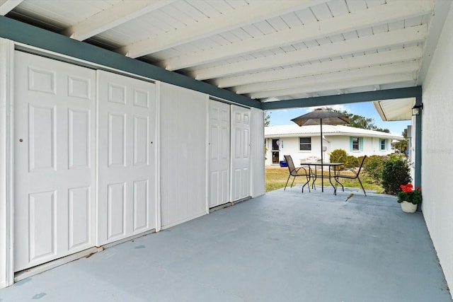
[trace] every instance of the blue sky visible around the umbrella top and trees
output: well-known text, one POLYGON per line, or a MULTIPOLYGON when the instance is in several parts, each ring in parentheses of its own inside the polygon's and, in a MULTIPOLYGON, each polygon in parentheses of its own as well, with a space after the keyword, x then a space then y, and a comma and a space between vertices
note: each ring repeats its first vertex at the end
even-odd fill
MULTIPOLYGON (((374 108, 372 102, 366 103, 350 103, 342 105, 329 105, 327 107, 336 109, 336 110, 347 110, 348 112, 354 115, 362 115, 363 117, 371 117, 374 124, 382 129, 389 129, 390 133, 401 135, 403 130, 411 124, 410 120, 407 121, 393 121, 393 122, 384 122, 379 114, 374 108)), ((317 108, 317 107, 316 107, 317 108)), ((313 111, 315 108, 288 108, 280 110, 269 110, 268 114, 270 115, 270 125, 279 126, 283 124, 294 124, 291 122, 291 119, 298 117, 299 115, 304 115, 307 112, 313 111)))

